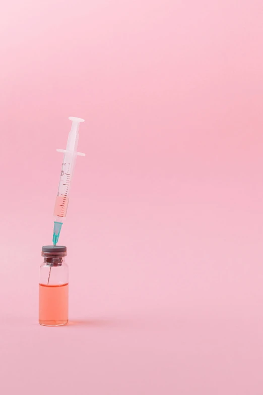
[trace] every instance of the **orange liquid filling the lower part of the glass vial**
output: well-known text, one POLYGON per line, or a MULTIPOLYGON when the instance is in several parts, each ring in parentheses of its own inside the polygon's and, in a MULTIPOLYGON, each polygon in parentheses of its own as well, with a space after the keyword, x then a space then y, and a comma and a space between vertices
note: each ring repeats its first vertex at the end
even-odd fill
POLYGON ((39 323, 58 326, 69 321, 69 283, 39 284, 39 323))

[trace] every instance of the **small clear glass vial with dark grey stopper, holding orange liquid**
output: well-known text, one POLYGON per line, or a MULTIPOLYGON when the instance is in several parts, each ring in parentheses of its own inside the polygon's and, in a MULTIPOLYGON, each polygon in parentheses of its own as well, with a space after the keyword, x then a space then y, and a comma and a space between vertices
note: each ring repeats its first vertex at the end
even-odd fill
POLYGON ((39 279, 39 323, 65 325, 69 321, 69 266, 67 247, 43 246, 39 279))

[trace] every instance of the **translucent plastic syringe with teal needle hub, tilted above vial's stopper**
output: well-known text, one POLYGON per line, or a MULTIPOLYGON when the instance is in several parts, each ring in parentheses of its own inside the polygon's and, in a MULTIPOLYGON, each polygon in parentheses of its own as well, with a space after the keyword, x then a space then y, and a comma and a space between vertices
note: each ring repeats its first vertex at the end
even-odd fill
POLYGON ((85 156, 81 152, 77 152, 78 140, 79 140, 79 126, 80 122, 84 122, 81 118, 70 117, 72 121, 71 131, 68 137, 68 143, 66 149, 57 149, 58 152, 64 153, 62 169, 59 179, 58 192, 55 202, 54 209, 54 231, 53 231, 53 245, 55 246, 58 242, 63 218, 67 215, 67 208, 69 204, 69 193, 71 188, 71 182, 74 174, 74 168, 76 163, 77 155, 85 156))

